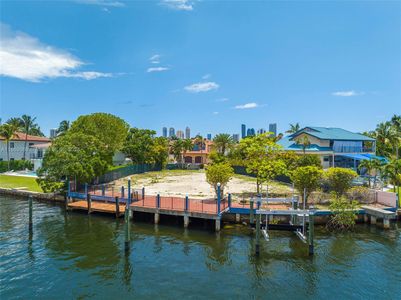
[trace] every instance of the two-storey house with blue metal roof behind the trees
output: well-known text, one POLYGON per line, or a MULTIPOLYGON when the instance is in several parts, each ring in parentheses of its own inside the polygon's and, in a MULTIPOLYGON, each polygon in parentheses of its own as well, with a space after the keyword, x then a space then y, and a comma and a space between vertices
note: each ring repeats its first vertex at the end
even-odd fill
POLYGON ((299 154, 317 154, 323 168, 343 167, 358 171, 359 162, 376 156, 376 140, 342 128, 304 127, 283 137, 278 144, 299 154))

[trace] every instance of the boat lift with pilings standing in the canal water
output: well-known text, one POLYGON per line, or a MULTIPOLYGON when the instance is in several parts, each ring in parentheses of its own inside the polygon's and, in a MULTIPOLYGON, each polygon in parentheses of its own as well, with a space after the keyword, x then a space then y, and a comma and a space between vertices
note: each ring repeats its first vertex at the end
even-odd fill
MULTIPOLYGON (((304 191, 305 199, 306 191, 304 191)), ((269 198, 266 193, 266 198, 259 195, 256 198, 251 198, 250 200, 250 220, 251 226, 256 228, 256 243, 255 252, 256 255, 260 253, 260 235, 262 234, 266 241, 270 240, 269 230, 282 230, 282 231, 292 231, 298 238, 305 244, 308 244, 309 255, 314 253, 314 209, 306 209, 305 203, 303 207, 298 206, 298 197, 291 198, 269 198), (254 210, 254 204, 256 203, 256 210, 254 210), (269 209, 269 203, 291 203, 291 208, 284 209, 269 209), (261 208, 262 204, 266 204, 265 208, 261 208), (256 216, 254 216, 254 213, 256 216), (272 224, 274 216, 289 216, 290 221, 288 224, 272 224), (256 222, 255 222, 256 217, 256 222), (265 221, 263 222, 263 217, 265 221), (255 224, 256 223, 256 224, 255 224)))

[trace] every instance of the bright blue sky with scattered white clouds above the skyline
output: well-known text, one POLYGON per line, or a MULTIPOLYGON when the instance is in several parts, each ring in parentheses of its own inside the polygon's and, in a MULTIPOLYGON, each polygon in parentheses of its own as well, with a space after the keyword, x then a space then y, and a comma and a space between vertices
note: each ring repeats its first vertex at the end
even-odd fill
POLYGON ((161 134, 401 114, 401 1, 1 1, 0 116, 108 112, 161 134))

